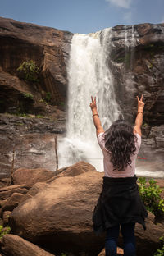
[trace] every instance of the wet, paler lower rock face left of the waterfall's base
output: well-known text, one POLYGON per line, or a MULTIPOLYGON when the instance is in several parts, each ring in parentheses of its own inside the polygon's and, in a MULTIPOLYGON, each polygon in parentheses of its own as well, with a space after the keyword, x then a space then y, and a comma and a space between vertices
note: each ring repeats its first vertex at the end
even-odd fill
POLYGON ((0 177, 18 168, 56 171, 55 138, 65 131, 65 121, 0 115, 0 177))

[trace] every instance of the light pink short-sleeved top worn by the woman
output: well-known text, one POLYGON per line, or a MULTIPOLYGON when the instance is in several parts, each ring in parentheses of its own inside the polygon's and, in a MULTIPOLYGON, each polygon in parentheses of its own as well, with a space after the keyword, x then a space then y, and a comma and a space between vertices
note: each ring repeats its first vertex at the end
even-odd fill
POLYGON ((141 145, 141 136, 139 134, 135 134, 137 136, 137 141, 135 142, 136 150, 134 155, 131 156, 131 164, 125 168, 125 171, 113 171, 113 165, 110 161, 110 152, 105 148, 105 140, 104 140, 104 132, 98 135, 98 144, 103 151, 103 167, 104 167, 104 176, 112 177, 112 178, 121 178, 121 177, 132 177, 135 175, 135 160, 137 158, 137 154, 139 153, 139 148, 141 145))

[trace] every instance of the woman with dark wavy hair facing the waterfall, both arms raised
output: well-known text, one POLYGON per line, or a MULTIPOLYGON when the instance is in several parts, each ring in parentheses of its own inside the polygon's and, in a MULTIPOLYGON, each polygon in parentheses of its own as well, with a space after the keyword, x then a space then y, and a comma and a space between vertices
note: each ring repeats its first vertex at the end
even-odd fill
POLYGON ((115 121, 104 132, 98 116, 96 98, 91 97, 93 123, 96 127, 98 144, 103 150, 103 191, 93 212, 93 228, 98 235, 107 231, 106 256, 116 255, 116 244, 120 226, 124 240, 124 255, 135 255, 134 226, 139 222, 144 226, 148 216, 139 197, 135 160, 141 144, 143 122, 143 95, 138 99, 138 112, 134 129, 124 120, 115 121))

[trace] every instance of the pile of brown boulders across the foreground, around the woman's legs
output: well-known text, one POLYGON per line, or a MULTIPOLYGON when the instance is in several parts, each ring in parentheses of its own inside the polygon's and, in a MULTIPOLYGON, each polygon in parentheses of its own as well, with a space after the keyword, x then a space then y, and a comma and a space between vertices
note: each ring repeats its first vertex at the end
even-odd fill
MULTIPOLYGON (((2 238, 2 254, 105 255, 104 235, 94 235, 92 224, 103 173, 87 162, 77 162, 58 175, 43 169, 18 169, 12 182, 0 189, 0 222, 11 227, 11 235, 2 238)), ((159 185, 164 188, 163 180, 159 185)), ((153 256, 161 246, 163 223, 156 225, 149 213, 146 226, 146 231, 139 224, 135 229, 139 256, 153 256)), ((122 247, 121 236, 118 245, 122 247)), ((123 254, 121 249, 118 252, 123 254)))

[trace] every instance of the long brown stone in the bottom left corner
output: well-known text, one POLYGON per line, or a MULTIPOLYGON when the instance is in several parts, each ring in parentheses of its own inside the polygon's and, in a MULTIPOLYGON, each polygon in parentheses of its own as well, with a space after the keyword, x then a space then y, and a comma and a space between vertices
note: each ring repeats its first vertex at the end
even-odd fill
POLYGON ((18 235, 3 236, 2 253, 7 256, 54 256, 18 235))

